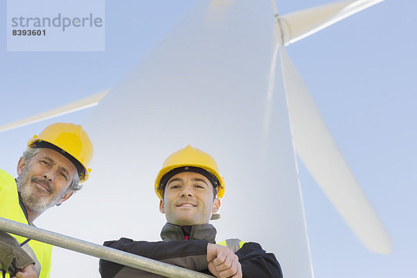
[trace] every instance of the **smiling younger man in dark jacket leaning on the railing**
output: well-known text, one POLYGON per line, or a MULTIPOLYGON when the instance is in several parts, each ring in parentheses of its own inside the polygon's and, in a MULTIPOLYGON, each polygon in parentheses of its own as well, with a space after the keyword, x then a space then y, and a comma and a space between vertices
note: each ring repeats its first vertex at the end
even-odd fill
MULTIPOLYGON (((121 238, 104 245, 215 277, 282 277, 274 254, 258 243, 233 238, 215 244, 216 230, 208 222, 219 217, 224 179, 211 156, 190 145, 171 154, 156 177, 155 191, 167 219, 163 241, 121 238)), ((108 261, 100 261, 100 273, 103 278, 160 277, 108 261)))

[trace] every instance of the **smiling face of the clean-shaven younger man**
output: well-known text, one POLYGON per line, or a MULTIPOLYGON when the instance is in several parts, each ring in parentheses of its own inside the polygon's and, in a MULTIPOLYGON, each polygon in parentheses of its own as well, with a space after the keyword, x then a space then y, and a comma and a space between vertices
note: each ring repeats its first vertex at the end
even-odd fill
POLYGON ((181 172, 165 186, 159 211, 167 222, 179 226, 207 224, 212 213, 218 213, 220 199, 213 198, 213 186, 202 174, 181 172))

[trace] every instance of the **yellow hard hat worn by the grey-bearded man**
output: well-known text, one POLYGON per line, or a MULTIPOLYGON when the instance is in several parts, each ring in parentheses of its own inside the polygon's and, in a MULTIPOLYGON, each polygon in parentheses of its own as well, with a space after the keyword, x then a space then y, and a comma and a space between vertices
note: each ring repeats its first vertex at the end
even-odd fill
POLYGON ((91 172, 92 142, 79 124, 62 122, 50 124, 39 136, 28 141, 28 147, 54 149, 66 156, 75 165, 80 182, 86 181, 91 172), (69 155, 68 155, 69 154, 69 155))

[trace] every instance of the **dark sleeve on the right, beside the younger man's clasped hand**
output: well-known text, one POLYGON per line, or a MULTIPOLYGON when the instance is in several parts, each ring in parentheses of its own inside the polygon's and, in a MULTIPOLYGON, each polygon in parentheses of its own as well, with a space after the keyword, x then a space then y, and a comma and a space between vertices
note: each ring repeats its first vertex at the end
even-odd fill
POLYGON ((281 266, 272 253, 259 243, 245 243, 236 253, 242 265, 243 278, 282 278, 281 266))

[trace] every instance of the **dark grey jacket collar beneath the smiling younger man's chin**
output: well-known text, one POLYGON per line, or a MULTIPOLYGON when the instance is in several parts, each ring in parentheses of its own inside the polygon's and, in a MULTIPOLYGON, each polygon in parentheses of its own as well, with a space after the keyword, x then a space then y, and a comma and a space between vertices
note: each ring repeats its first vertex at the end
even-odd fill
POLYGON ((217 231, 212 224, 181 227, 166 223, 162 228, 161 238, 163 241, 205 239, 210 243, 215 243, 216 234, 217 231), (188 238, 186 238, 186 236, 188 236, 188 238))

